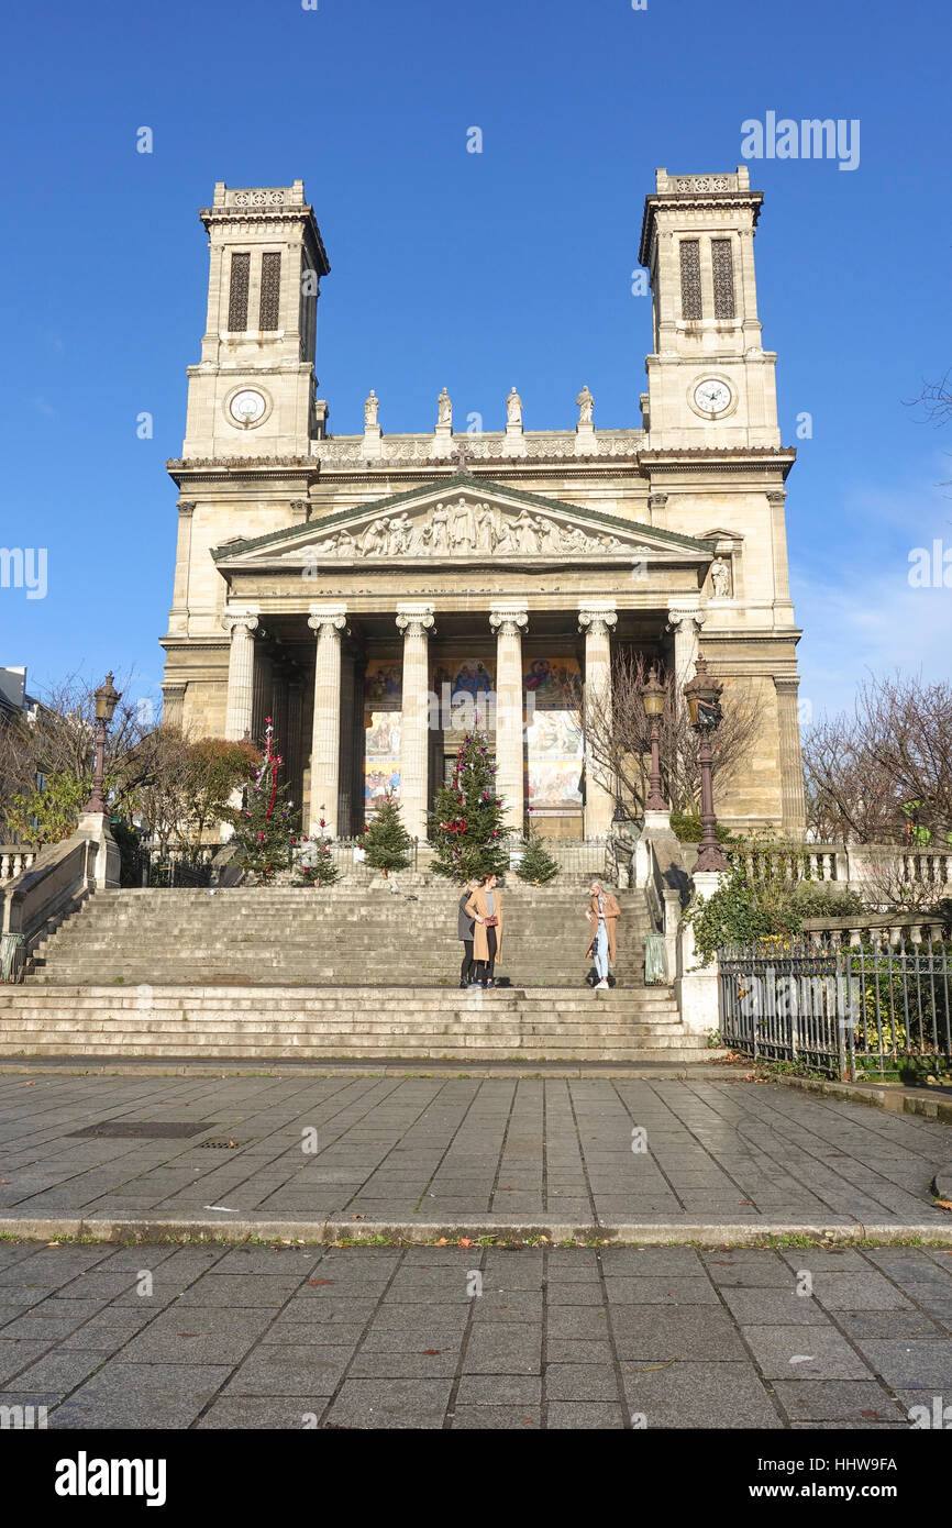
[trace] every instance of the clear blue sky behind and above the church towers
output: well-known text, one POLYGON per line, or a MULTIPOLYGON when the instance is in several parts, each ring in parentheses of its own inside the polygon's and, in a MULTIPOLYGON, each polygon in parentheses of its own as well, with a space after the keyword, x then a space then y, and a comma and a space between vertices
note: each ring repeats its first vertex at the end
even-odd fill
POLYGON ((906 408, 952 365, 944 0, 165 0, 12 5, 3 21, 0 544, 49 549, 46 599, 0 590, 31 688, 134 665, 157 695, 185 367, 199 359, 215 180, 301 176, 332 261, 330 428, 637 425, 649 303, 630 292, 654 170, 732 170, 741 122, 859 118, 860 163, 750 165, 764 344, 779 353, 802 695, 868 666, 947 671, 952 426, 906 408), (136 130, 154 153, 136 153, 136 130), (483 128, 483 154, 466 130, 483 128), (136 416, 154 439, 136 439, 136 416), (813 439, 796 440, 796 416, 813 439))

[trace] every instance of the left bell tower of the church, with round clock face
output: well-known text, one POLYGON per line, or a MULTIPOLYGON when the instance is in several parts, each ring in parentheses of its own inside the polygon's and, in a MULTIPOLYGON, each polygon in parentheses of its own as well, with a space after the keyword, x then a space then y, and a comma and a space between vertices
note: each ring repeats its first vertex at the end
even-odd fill
POLYGON ((208 319, 188 368, 183 458, 306 457, 315 411, 321 277, 330 264, 304 182, 215 185, 208 229, 208 319))

